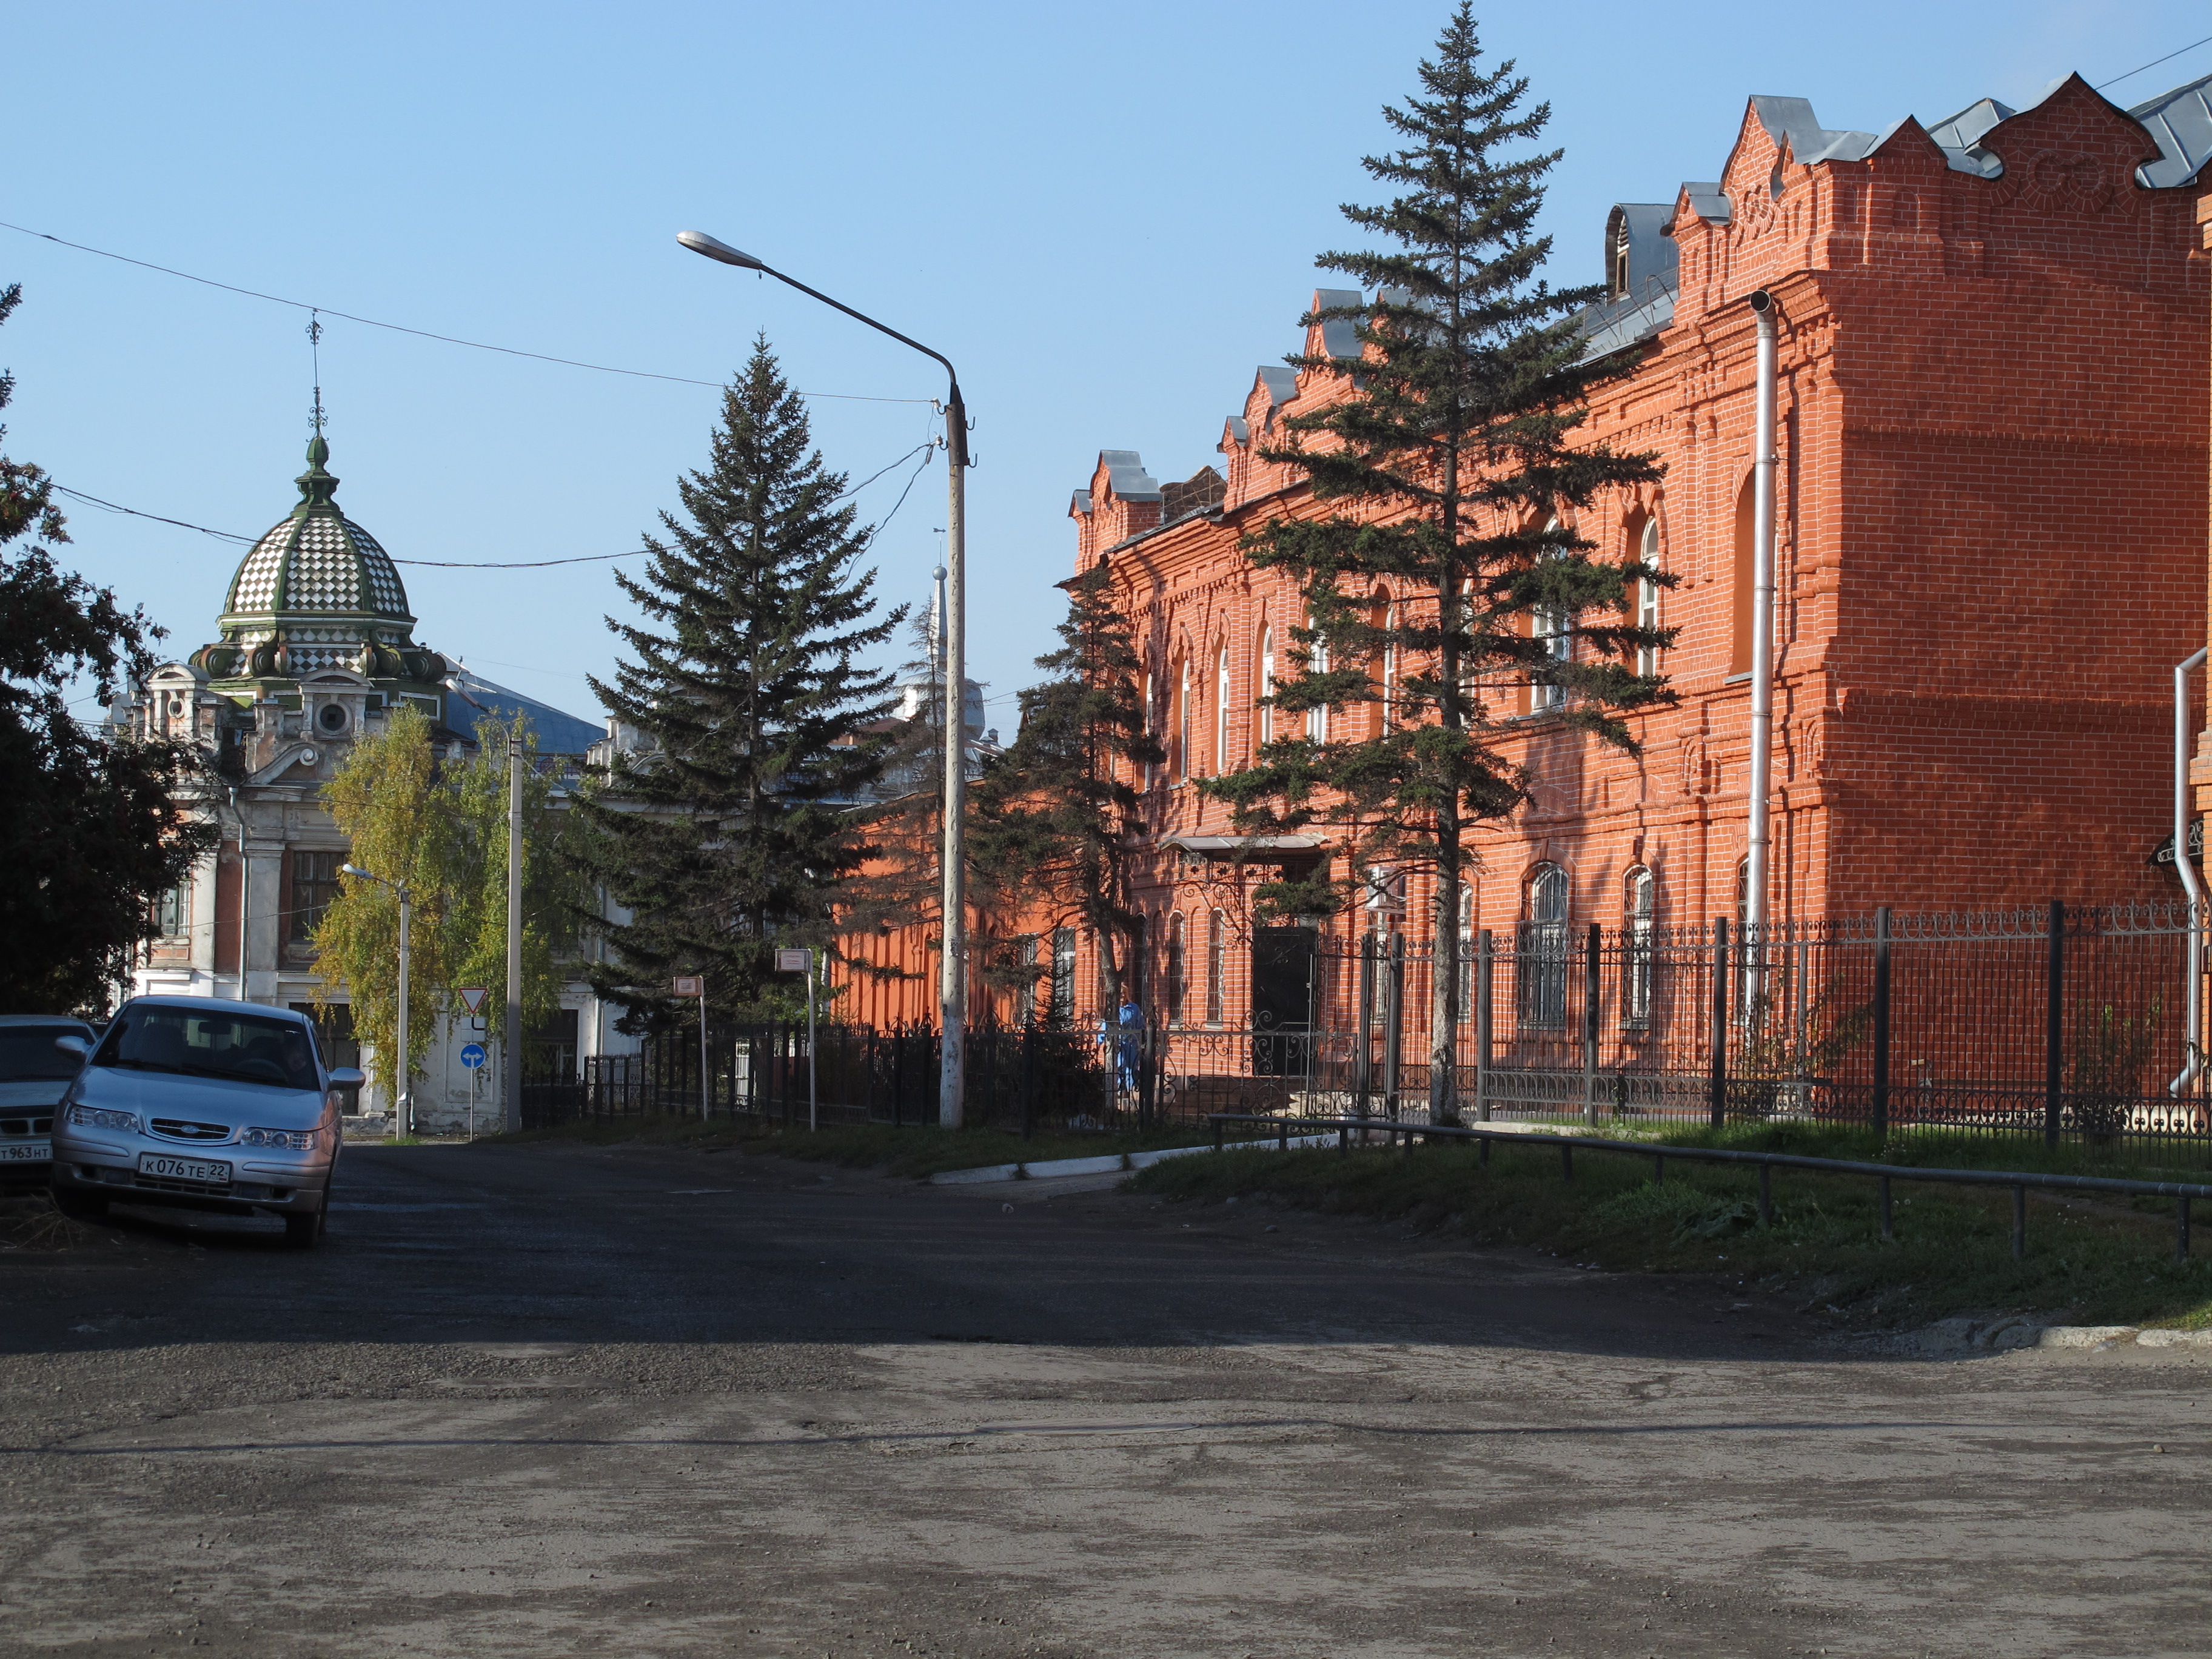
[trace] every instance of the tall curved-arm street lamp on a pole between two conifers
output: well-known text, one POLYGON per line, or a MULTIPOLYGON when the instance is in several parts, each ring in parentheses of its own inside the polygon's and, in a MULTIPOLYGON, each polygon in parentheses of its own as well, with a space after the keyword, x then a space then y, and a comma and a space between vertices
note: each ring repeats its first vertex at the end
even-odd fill
POLYGON ((911 345, 927 358, 942 365, 951 392, 945 398, 945 458, 951 469, 951 518, 947 524, 947 597, 945 597, 945 852, 942 887, 938 907, 945 911, 945 956, 938 962, 938 1004, 945 1026, 942 1066, 938 1071, 938 1124, 960 1128, 964 1048, 967 1048, 967 405, 960 400, 960 374, 951 358, 931 352, 920 341, 909 341, 896 327, 885 327, 874 316, 856 312, 843 301, 830 299, 816 288, 807 288, 796 276, 785 276, 774 265, 739 252, 726 241, 717 241, 703 230, 679 230, 677 241, 695 254, 703 254, 723 265, 757 270, 774 276, 787 288, 796 288, 823 305, 845 312, 858 323, 867 323, 878 334, 889 334, 900 345, 911 345))

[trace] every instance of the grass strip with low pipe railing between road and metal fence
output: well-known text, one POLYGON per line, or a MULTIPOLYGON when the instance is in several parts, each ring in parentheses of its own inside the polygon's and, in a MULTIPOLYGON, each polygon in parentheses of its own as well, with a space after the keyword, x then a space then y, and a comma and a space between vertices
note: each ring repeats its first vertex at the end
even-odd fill
MULTIPOLYGON (((1887 1148, 1816 1126, 1683 1130, 1657 1144, 1728 1144, 1812 1157, 1863 1157, 1922 1168, 2037 1168, 2033 1148, 1995 1137, 1947 1137, 1887 1148), (1781 1144, 1774 1144, 1781 1141, 1781 1144), (1980 1141, 1955 1146, 1951 1141, 1980 1141), (1940 1152, 1940 1155, 1938 1155, 1940 1152)), ((2046 1166, 2048 1166, 2048 1155, 2046 1166)), ((2059 1159, 2068 1152, 2062 1148, 2059 1159)), ((1759 1223, 1754 1168, 1670 1161, 1652 1181, 1646 1157, 1577 1150, 1562 1179, 1542 1135, 1475 1146, 1396 1150, 1219 1152, 1139 1170, 1128 1186, 1172 1201, 1270 1199, 1290 1208, 1398 1221, 1413 1232, 1482 1245, 1528 1245, 1575 1263, 1628 1272, 1723 1274, 1794 1294, 1803 1310, 1900 1327, 1962 1314, 2037 1314, 2064 1325, 2212 1325, 2212 1259, 2172 1256, 2172 1203, 2119 1194, 2028 1192, 2028 1254, 2013 1261, 2004 1188, 1893 1183, 1896 1239, 1882 1243, 1867 1177, 1774 1170, 1774 1223, 1759 1223)), ((2066 1172, 2128 1175, 2097 1161, 2066 1172)), ((2177 1179, 2146 1170, 2141 1179, 2177 1179)), ((2181 1179, 2190 1179, 2181 1175, 2181 1179)))

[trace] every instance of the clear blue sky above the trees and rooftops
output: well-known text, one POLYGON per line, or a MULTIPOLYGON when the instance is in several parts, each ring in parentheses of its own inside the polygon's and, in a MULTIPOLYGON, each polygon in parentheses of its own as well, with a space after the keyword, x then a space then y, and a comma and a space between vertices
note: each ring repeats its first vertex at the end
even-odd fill
MULTIPOLYGON (((721 380, 765 330, 794 385, 931 398, 933 365, 675 243, 710 230, 953 358, 978 429, 971 672, 993 723, 1060 615, 1068 493, 1102 447, 1214 460, 1259 363, 1296 345, 1336 204, 1371 192, 1378 106, 1442 0, 1033 4, 102 4, 9 22, 0 219, 420 330, 721 380)), ((1484 44, 1553 106, 1557 281, 1593 281, 1613 201, 1719 173, 1750 93, 1829 126, 1927 122, 2055 75, 2121 75, 2201 4, 1493 7, 1484 44)), ((2141 102, 2212 46, 2121 82, 2141 102)), ((75 489, 257 533, 294 500, 305 314, 0 230, 18 376, 7 451, 75 489)), ((675 500, 712 387, 588 374, 332 319, 338 500, 398 557, 617 553, 675 500)), ((925 403, 821 398, 865 478, 925 403)), ((909 469, 863 493, 889 511, 909 469)), ((942 471, 878 542, 922 599, 942 471)), ((77 568, 173 648, 212 637, 239 549, 73 509, 77 568)), ((635 562, 633 562, 635 568, 635 562)), ((595 717, 606 564, 407 568, 418 637, 595 717)))

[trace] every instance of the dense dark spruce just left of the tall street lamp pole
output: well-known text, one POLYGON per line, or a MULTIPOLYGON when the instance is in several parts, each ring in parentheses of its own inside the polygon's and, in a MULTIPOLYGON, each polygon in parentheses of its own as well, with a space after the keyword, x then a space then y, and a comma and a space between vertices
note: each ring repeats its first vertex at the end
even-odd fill
POLYGON ((869 854, 854 803, 889 743, 891 677, 858 659, 905 615, 869 622, 872 531, 765 336, 677 495, 644 580, 615 577, 641 611, 608 617, 628 657, 593 679, 646 743, 580 803, 588 865, 633 914, 604 925, 615 960, 591 978, 633 1029, 672 1022, 675 973, 703 975, 717 1013, 781 1013, 774 947, 832 945, 836 894, 869 854))

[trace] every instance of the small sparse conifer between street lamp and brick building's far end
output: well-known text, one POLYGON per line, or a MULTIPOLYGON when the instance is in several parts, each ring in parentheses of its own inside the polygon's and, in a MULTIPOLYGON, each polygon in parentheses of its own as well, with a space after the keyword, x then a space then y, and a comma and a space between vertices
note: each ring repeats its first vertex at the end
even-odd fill
MULTIPOLYGON (((1046 905, 1099 942, 1102 978, 1119 1000, 1144 938, 1135 880, 1144 867, 1135 776, 1166 759, 1146 730, 1144 664, 1104 562, 1066 584, 1060 650, 1037 657, 1051 679, 1022 692, 1022 730, 975 783, 971 847, 1002 896, 1046 905)), ((1018 978, 1033 982, 1035 971, 1018 978)))

